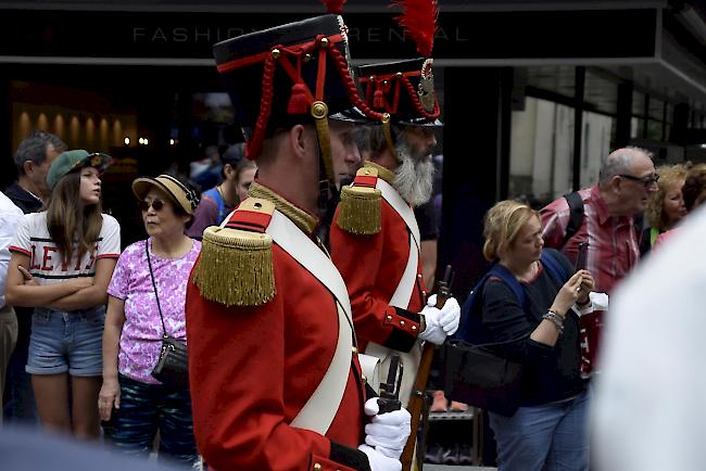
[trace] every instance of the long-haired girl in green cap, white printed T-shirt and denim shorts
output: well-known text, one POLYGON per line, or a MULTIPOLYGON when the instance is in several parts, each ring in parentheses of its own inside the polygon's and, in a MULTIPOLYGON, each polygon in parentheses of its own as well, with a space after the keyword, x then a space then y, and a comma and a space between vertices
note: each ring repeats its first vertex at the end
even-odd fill
POLYGON ((101 213, 109 163, 84 150, 59 155, 47 211, 25 215, 10 246, 7 302, 35 308, 26 370, 39 419, 80 438, 99 434, 105 290, 121 251, 119 225, 101 213))

